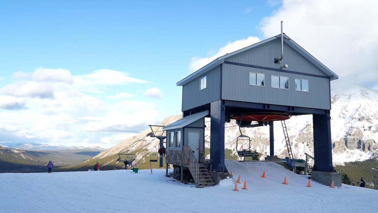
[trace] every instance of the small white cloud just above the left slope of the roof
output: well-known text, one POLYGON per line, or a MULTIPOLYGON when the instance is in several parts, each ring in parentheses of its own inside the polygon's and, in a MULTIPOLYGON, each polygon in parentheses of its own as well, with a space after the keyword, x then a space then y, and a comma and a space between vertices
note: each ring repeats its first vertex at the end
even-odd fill
POLYGON ((255 44, 259 42, 260 39, 258 37, 249 36, 246 39, 236 40, 234 42, 229 42, 226 46, 220 48, 217 53, 215 53, 212 56, 206 57, 206 58, 200 58, 200 57, 193 57, 190 64, 190 71, 195 72, 196 70, 200 69, 206 64, 209 64, 214 59, 223 56, 227 53, 232 53, 236 50, 239 50, 241 48, 247 47, 249 45, 255 44))

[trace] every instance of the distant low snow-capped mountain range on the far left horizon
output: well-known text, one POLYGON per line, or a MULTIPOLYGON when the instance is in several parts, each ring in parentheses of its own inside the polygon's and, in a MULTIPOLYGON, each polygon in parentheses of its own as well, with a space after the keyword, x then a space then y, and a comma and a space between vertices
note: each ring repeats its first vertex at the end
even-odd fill
POLYGON ((14 149, 24 149, 29 151, 62 151, 62 150, 87 150, 87 151, 99 151, 103 152, 106 149, 98 147, 98 146, 50 146, 47 144, 41 143, 0 143, 0 146, 14 148, 14 149))

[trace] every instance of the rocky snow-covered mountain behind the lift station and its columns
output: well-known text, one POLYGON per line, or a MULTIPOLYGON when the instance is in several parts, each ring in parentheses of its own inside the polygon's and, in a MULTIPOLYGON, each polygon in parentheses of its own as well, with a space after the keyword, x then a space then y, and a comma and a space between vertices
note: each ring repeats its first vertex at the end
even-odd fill
MULTIPOLYGON (((335 164, 366 160, 378 154, 378 109, 376 106, 378 106, 378 91, 376 90, 352 87, 347 90, 332 92, 331 125, 333 162, 335 164)), ((162 121, 161 124, 166 125, 180 118, 180 115, 170 116, 162 121)), ((207 126, 205 130, 205 146, 209 147, 210 122, 207 121, 209 121, 209 118, 205 120, 207 126)), ((305 152, 313 155, 312 116, 294 116, 287 120, 286 124, 294 157, 303 159, 305 152)), ((118 152, 138 150, 138 153, 136 153, 137 159, 143 161, 147 153, 156 152, 154 147, 159 142, 154 138, 146 137, 148 132, 150 132, 150 129, 134 137, 127 138, 90 160, 104 159, 110 156, 113 156, 115 160, 118 152)), ((262 153, 262 159, 269 154, 268 126, 243 128, 242 132, 251 137, 252 149, 262 153)), ((239 135, 240 132, 238 127, 235 126, 235 121, 226 123, 225 148, 235 149, 236 138, 239 135)), ((274 122, 274 141, 276 155, 279 157, 287 156, 286 143, 279 121, 274 122)), ((247 144, 242 145, 242 147, 247 146, 247 144)), ((108 163, 114 162, 113 158, 108 163)))

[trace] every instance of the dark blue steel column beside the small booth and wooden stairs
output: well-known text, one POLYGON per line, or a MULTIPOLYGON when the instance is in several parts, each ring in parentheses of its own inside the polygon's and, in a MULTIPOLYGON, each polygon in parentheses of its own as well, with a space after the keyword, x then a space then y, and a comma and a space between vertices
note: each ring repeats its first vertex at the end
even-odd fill
POLYGON ((210 160, 212 171, 227 172, 225 166, 225 104, 223 100, 210 105, 210 160))

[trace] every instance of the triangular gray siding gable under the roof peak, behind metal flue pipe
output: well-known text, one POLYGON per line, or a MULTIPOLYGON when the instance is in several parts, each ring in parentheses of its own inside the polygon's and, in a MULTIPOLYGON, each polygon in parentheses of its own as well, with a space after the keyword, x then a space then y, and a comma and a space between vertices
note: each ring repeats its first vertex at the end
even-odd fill
POLYGON ((280 62, 280 64, 275 64, 274 58, 280 58, 280 56, 281 43, 280 39, 277 38, 252 49, 243 51, 239 54, 230 56, 229 58, 226 58, 225 61, 271 68, 280 68, 282 65, 288 64, 289 67, 287 70, 327 76, 318 67, 285 43, 283 44, 283 60, 280 62))

